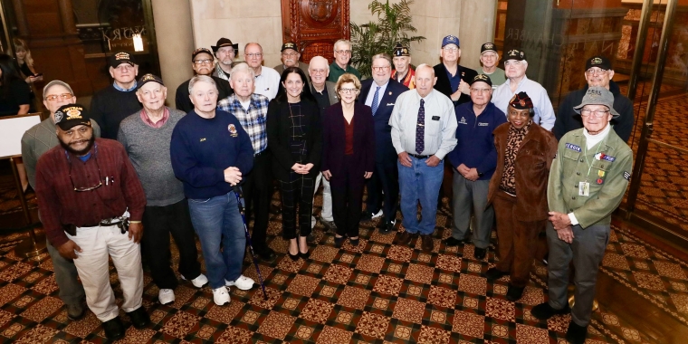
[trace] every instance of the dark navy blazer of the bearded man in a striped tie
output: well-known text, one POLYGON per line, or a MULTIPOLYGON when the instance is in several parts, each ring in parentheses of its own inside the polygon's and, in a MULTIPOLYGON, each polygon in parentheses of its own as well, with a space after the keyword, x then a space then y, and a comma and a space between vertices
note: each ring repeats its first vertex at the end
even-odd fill
MULTIPOLYGON (((375 94, 375 83, 372 79, 361 81, 360 95, 358 101, 365 104, 368 99, 368 93, 375 94)), ((385 94, 382 95, 380 105, 377 108, 377 113, 373 116, 375 122, 375 161, 377 164, 392 164, 397 166, 397 150, 392 144, 392 127, 389 125, 389 117, 394 110, 394 104, 397 101, 399 94, 408 91, 408 88, 403 84, 389 80, 385 94)), ((379 95, 377 95, 379 97, 379 95)))

